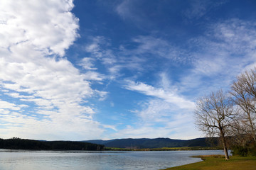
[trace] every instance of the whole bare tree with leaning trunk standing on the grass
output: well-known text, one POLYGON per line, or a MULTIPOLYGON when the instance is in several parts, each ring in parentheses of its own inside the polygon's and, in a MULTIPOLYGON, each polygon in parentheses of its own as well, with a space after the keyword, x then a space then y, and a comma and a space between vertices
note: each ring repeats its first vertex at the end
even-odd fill
POLYGON ((228 94, 220 90, 198 99, 195 115, 199 130, 206 133, 208 137, 220 137, 225 159, 228 160, 226 135, 235 118, 233 102, 228 94))

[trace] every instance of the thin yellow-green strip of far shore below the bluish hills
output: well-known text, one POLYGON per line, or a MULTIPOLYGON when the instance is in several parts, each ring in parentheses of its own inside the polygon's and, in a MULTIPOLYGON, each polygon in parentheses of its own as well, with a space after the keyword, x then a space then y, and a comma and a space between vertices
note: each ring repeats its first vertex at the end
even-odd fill
POLYGON ((220 147, 161 147, 161 148, 146 148, 146 149, 129 149, 117 147, 105 147, 105 150, 112 151, 176 151, 176 150, 218 150, 220 147))

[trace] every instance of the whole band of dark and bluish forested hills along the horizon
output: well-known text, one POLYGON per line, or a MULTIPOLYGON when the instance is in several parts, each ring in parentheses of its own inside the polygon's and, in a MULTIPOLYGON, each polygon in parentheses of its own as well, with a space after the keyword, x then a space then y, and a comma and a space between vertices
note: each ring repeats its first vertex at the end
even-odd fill
MULTIPOLYGON (((215 144, 217 139, 213 140, 215 144)), ((117 139, 117 140, 87 140, 73 141, 39 141, 23 140, 17 137, 0 139, 0 149, 39 149, 39 150, 102 150, 104 147, 118 148, 161 148, 161 147, 210 147, 206 138, 193 140, 172 140, 169 138, 156 139, 117 139)))

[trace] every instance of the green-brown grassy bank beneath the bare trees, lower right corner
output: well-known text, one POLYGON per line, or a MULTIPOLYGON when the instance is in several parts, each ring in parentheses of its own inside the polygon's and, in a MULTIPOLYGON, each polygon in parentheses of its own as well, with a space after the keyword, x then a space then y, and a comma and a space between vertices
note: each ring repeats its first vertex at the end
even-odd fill
POLYGON ((165 170, 255 170, 256 157, 231 157, 225 161, 223 156, 201 156, 203 162, 176 166, 165 170))

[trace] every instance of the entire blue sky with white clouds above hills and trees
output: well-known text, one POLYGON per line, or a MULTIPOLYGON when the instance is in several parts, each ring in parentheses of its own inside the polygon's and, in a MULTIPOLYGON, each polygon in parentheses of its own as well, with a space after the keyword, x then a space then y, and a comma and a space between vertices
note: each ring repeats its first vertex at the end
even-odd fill
POLYGON ((254 0, 0 0, 0 138, 189 140, 256 66, 254 0))

